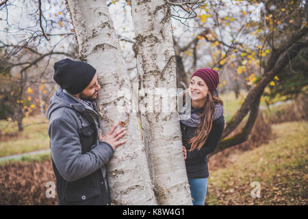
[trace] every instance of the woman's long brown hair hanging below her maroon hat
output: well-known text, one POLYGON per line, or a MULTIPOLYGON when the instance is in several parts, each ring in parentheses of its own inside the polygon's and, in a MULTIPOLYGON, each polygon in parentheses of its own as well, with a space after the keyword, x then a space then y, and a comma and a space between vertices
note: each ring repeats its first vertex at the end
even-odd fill
MULTIPOLYGON (((183 93, 183 104, 185 104, 186 93, 188 93, 188 91, 183 93)), ((211 131, 214 120, 216 103, 221 103, 222 105, 224 105, 222 100, 218 96, 216 96, 216 94, 211 94, 211 92, 207 92, 207 100, 205 101, 203 112, 199 115, 201 118, 201 123, 197 127, 196 136, 188 140, 188 143, 191 144, 190 151, 194 151, 194 149, 198 149, 200 151, 201 147, 207 141, 207 137, 209 136, 209 132, 211 131)))

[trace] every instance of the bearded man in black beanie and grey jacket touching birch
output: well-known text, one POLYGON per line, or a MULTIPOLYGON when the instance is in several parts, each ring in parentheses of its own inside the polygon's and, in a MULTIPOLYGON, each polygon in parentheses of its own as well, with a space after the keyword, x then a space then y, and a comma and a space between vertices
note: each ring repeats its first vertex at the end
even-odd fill
POLYGON ((110 205, 105 164, 126 140, 116 125, 102 137, 95 99, 101 86, 86 62, 55 62, 53 79, 60 88, 51 98, 47 118, 51 159, 59 205, 110 205))

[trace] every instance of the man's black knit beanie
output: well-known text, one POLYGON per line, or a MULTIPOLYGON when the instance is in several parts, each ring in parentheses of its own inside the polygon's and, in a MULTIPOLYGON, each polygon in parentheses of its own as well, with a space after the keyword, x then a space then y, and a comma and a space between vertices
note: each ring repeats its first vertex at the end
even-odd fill
POLYGON ((68 58, 55 62, 53 69, 55 70, 53 74, 55 82, 70 94, 78 94, 83 91, 97 72, 95 68, 86 62, 74 61, 68 58))

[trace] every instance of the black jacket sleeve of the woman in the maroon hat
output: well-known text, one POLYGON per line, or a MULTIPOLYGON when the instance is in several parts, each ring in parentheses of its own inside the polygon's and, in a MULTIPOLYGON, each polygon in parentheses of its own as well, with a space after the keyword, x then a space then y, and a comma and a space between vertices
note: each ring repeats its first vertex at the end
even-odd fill
POLYGON ((213 127, 209 132, 209 137, 200 151, 198 151, 198 149, 187 151, 186 160, 202 158, 214 152, 220 142, 222 131, 224 131, 224 116, 220 116, 220 118, 214 120, 213 127))

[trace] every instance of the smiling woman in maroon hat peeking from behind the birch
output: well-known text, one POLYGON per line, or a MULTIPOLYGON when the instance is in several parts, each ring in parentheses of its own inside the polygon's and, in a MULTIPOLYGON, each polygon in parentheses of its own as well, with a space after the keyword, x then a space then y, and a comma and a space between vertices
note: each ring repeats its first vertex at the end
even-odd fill
MULTIPOLYGON (((188 91, 191 98, 191 116, 180 120, 190 192, 193 205, 204 205, 207 194, 207 155, 212 153, 220 142, 224 129, 223 102, 216 88, 219 77, 216 70, 201 68, 192 75, 188 91)), ((184 111, 180 112, 185 114, 184 111)))

